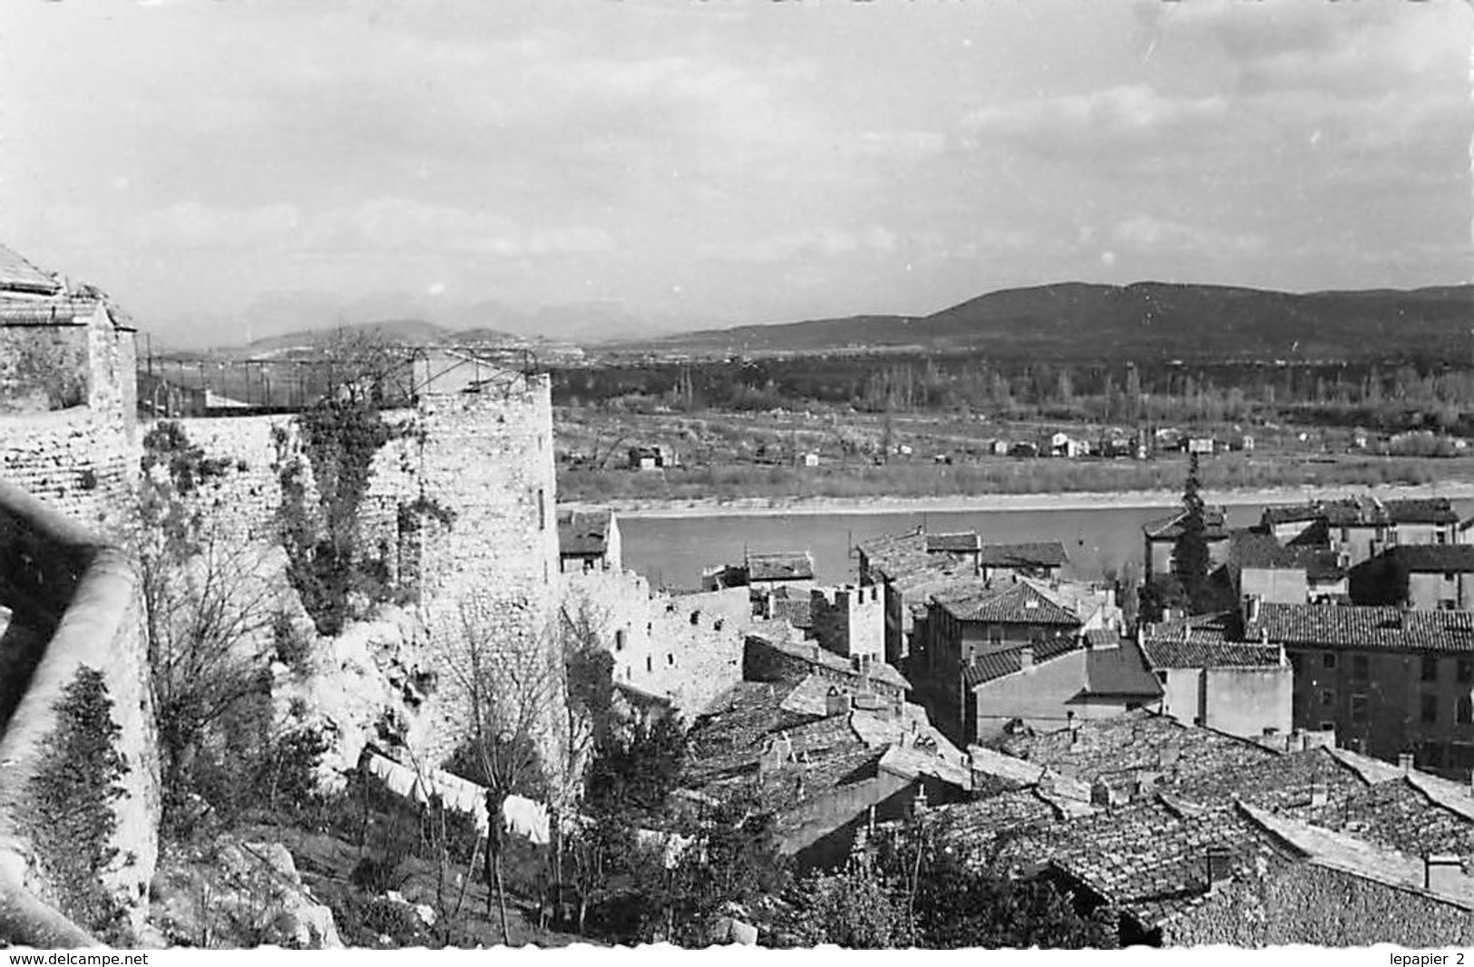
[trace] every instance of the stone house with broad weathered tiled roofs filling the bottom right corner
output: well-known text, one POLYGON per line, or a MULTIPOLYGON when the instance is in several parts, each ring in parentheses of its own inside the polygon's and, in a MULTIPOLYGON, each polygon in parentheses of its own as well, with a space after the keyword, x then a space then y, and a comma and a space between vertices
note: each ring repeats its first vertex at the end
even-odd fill
POLYGON ((1462 784, 1150 712, 1023 730, 1005 752, 1026 761, 974 753, 980 797, 935 811, 943 840, 1083 911, 1108 905, 1123 945, 1470 942, 1462 784))

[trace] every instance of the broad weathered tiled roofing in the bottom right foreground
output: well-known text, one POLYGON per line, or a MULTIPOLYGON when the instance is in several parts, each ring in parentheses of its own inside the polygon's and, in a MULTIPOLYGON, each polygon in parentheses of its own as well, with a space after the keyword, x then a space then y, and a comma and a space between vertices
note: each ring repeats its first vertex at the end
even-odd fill
MULTIPOLYGON (((1014 867, 1051 864, 1145 930, 1209 895, 1209 849, 1223 851, 1235 880, 1312 862, 1414 892, 1421 856, 1455 855, 1465 873, 1474 859, 1474 797, 1462 784, 1384 764, 1366 778, 1356 768, 1365 756, 1343 750, 1281 753, 1148 712, 1088 721, 1075 736, 1023 736, 1014 750, 1027 761, 977 750, 974 768, 1024 789, 935 811, 946 842, 970 862, 1001 853, 1014 867), (1055 769, 1132 797, 1051 808, 1042 778, 1055 769)), ((1474 908, 1471 886, 1455 876, 1436 896, 1474 908)))

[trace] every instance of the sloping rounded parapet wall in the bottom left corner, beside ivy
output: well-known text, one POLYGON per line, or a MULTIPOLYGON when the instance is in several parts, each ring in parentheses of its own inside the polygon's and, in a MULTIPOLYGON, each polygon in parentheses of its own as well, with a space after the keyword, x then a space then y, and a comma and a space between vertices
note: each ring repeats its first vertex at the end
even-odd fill
POLYGON ((115 803, 113 845, 122 861, 108 883, 142 924, 158 858, 159 780, 137 572, 119 550, 4 482, 0 556, 0 603, 41 632, 22 663, 32 669, 25 688, 0 731, 0 939, 83 945, 90 938, 49 907, 50 884, 25 833, 34 808, 28 786, 56 730, 63 690, 83 666, 99 669, 122 727, 119 752, 130 764, 127 796, 115 803))

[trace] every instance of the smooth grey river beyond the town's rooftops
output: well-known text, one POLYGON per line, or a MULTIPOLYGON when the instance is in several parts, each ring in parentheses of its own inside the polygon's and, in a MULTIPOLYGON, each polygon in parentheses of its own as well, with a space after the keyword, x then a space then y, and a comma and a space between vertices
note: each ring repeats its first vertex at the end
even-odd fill
MULTIPOLYGON (((1229 526, 1259 520, 1265 504, 1229 506, 1229 526)), ((1474 501, 1459 500, 1461 514, 1474 513, 1474 501)), ((1070 563, 1066 576, 1094 579, 1108 568, 1142 556, 1141 526, 1172 514, 1173 504, 1157 507, 1100 507, 1070 510, 965 510, 904 513, 721 514, 619 519, 624 562, 654 587, 697 588, 702 569, 740 563, 743 551, 808 550, 822 584, 855 579, 855 542, 880 534, 899 534, 924 525, 929 531, 976 529, 985 541, 1060 541, 1070 563)))

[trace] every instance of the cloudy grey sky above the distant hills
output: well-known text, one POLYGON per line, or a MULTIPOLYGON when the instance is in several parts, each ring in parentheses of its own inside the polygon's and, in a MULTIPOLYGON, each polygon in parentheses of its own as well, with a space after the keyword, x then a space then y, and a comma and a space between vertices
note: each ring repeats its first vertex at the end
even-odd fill
POLYGON ((1471 44, 1464 0, 6 0, 0 243, 177 343, 1456 284, 1471 44))

